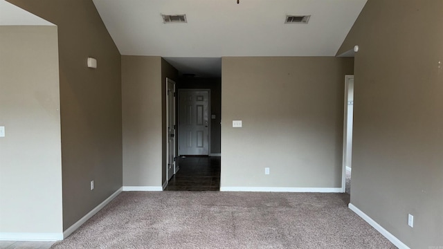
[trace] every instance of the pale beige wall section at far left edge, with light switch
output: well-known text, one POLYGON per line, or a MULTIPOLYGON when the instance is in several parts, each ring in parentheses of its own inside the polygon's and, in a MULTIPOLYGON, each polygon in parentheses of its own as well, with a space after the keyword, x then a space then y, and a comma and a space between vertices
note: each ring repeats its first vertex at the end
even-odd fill
POLYGON ((0 26, 0 89, 0 233, 62 234, 56 26, 0 26))

